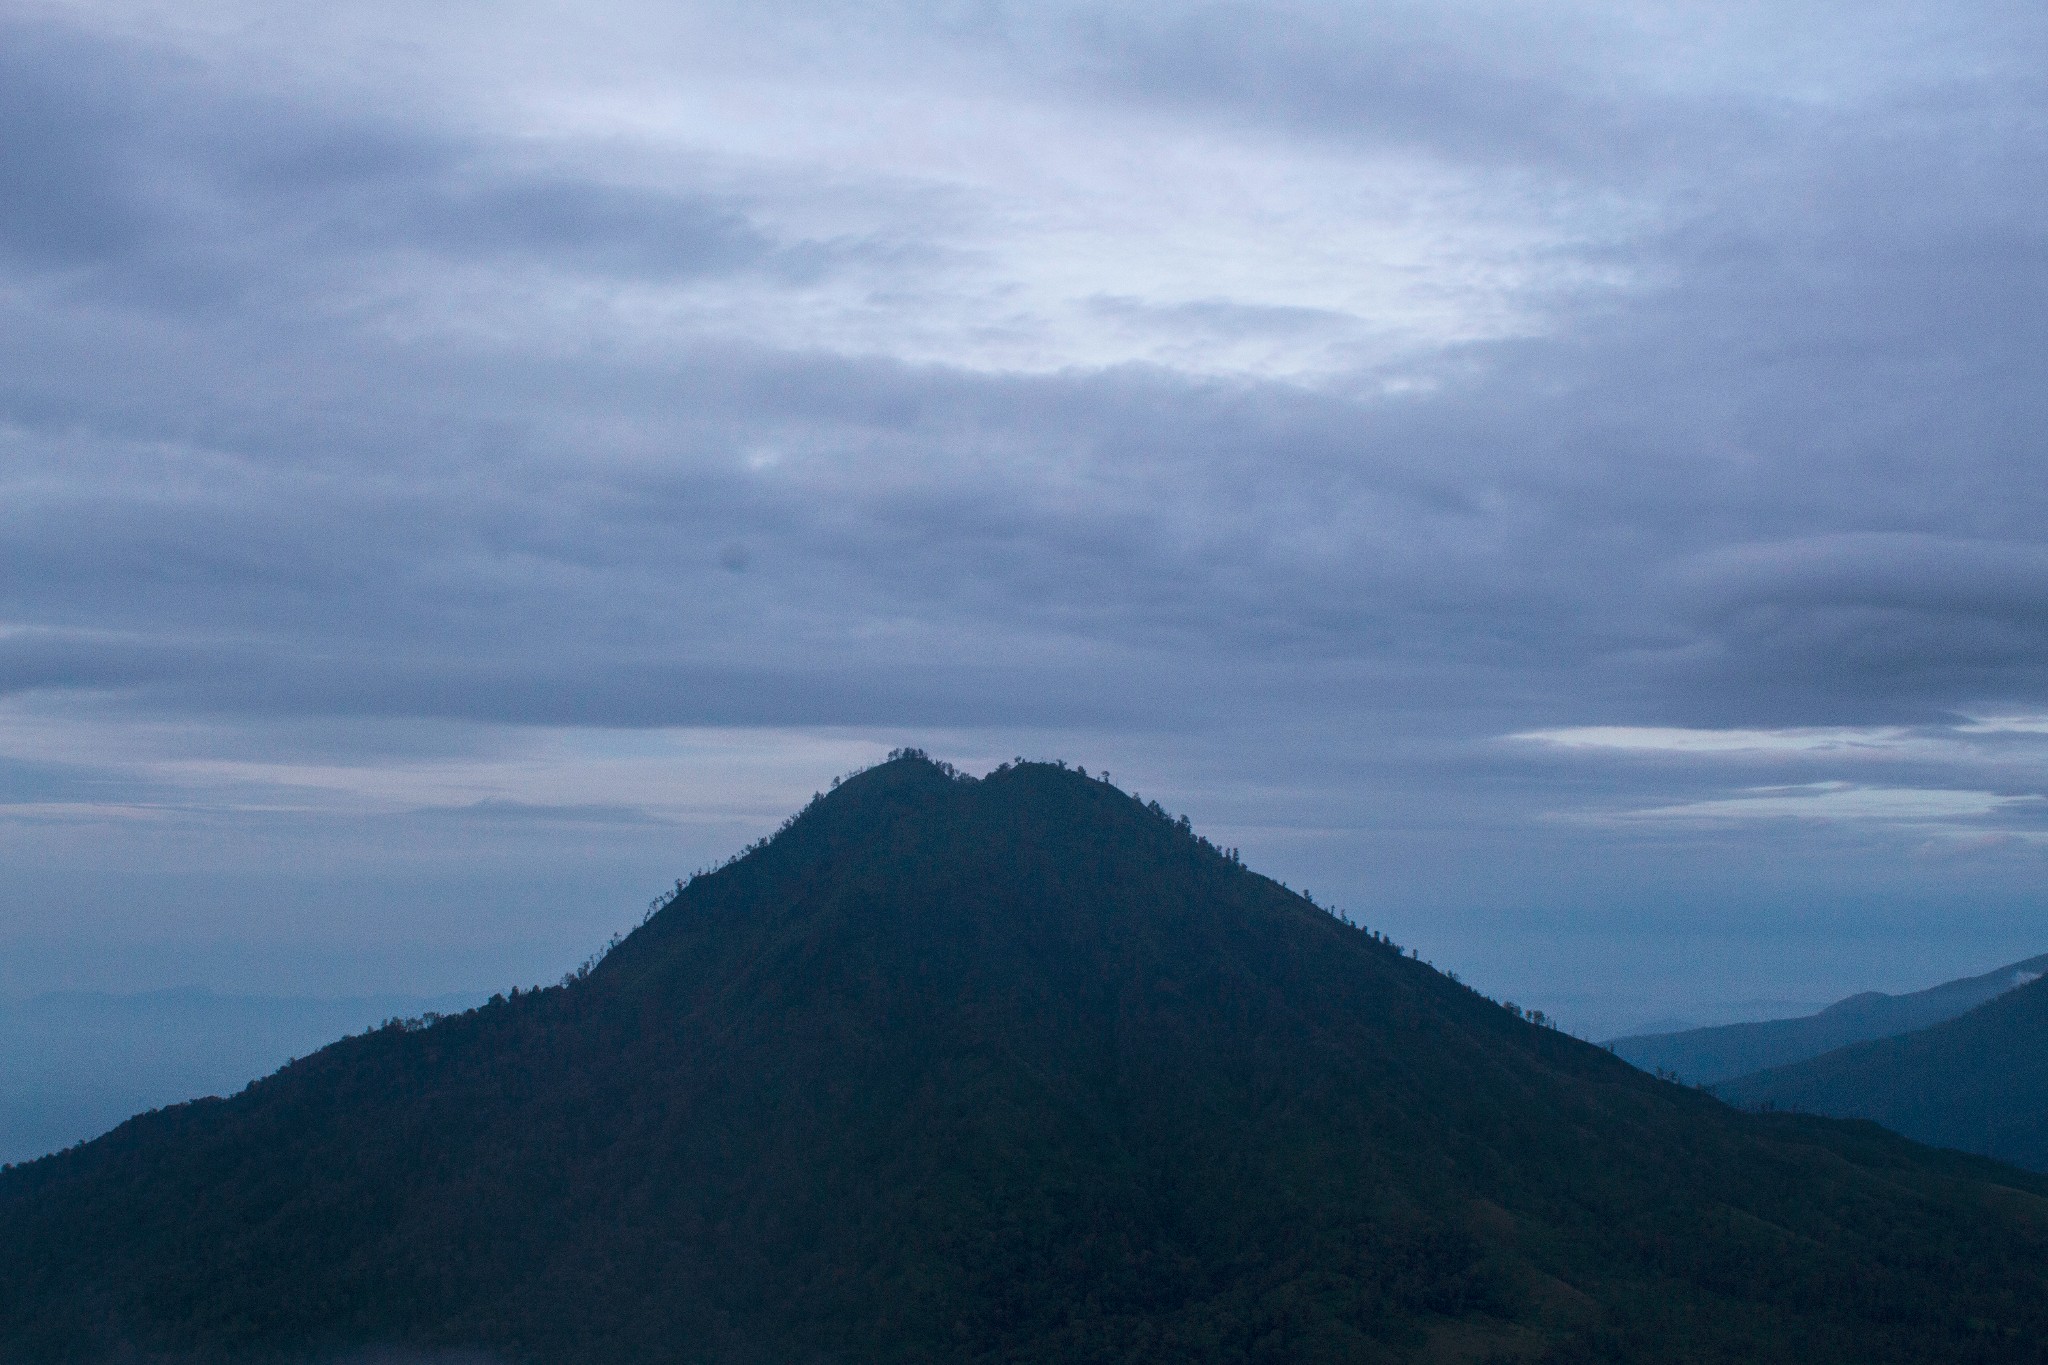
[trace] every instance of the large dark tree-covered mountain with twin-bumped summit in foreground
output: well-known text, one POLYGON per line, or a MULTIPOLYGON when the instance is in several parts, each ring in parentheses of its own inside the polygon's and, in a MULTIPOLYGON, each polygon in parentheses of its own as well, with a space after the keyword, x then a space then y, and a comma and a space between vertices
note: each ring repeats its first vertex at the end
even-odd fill
POLYGON ((2048 1361, 2048 1179, 1661 1083, 1063 765, 0 1173, 0 1361, 2048 1361), (471 1357, 475 1359, 475 1357, 471 1357))

